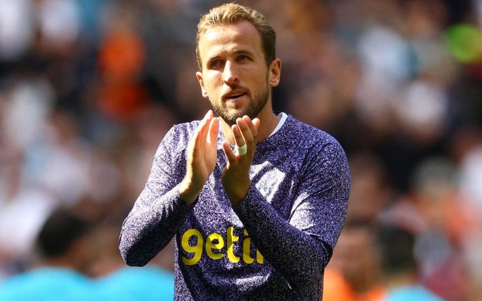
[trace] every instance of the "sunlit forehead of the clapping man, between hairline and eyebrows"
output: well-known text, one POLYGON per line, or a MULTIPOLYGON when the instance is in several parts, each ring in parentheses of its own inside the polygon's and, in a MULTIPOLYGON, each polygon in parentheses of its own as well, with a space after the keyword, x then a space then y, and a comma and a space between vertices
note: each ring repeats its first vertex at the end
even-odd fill
POLYGON ((239 50, 263 54, 261 38, 256 27, 249 21, 210 27, 199 42, 201 60, 239 50))

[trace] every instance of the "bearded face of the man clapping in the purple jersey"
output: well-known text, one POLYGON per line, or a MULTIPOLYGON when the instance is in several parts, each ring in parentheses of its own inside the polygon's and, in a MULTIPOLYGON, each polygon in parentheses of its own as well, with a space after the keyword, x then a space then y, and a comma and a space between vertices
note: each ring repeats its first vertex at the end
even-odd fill
POLYGON ((271 111, 271 72, 253 24, 240 21, 209 28, 201 37, 199 54, 202 72, 196 77, 202 95, 226 123, 232 125, 243 115, 253 119, 262 110, 271 111))

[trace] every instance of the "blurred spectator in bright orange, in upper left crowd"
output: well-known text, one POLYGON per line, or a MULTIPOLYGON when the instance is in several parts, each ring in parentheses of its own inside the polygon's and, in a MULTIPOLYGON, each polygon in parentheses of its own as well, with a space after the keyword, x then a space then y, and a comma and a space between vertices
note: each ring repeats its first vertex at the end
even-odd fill
POLYGON ((146 88, 139 82, 146 50, 134 30, 131 5, 119 2, 109 13, 99 45, 98 108, 109 118, 132 120, 148 101, 146 88))

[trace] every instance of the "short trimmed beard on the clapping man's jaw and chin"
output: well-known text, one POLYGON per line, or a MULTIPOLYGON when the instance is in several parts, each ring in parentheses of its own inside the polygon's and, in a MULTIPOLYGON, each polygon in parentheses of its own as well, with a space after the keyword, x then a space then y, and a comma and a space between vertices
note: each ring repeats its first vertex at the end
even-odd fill
MULTIPOLYGON (((251 102, 248 104, 246 109, 237 109, 235 113, 230 113, 229 108, 226 107, 226 103, 222 101, 222 99, 218 102, 212 101, 209 98, 212 109, 216 114, 219 115, 227 124, 233 125, 236 124, 236 119, 241 118, 244 115, 248 115, 251 120, 256 118, 261 110, 265 107, 266 103, 268 102, 269 98, 269 83, 268 83, 268 76, 266 77, 266 85, 265 89, 257 93, 256 95, 251 95, 251 102)), ((236 87, 231 87, 232 90, 235 90, 236 87)))

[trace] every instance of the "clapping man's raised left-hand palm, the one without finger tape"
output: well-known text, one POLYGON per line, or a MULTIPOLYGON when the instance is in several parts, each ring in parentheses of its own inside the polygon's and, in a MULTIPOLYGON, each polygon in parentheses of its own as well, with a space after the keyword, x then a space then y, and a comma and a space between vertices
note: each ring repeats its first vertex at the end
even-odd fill
POLYGON ((179 186, 179 193, 189 205, 197 199, 216 166, 218 131, 219 120, 209 110, 187 145, 186 176, 179 186))

